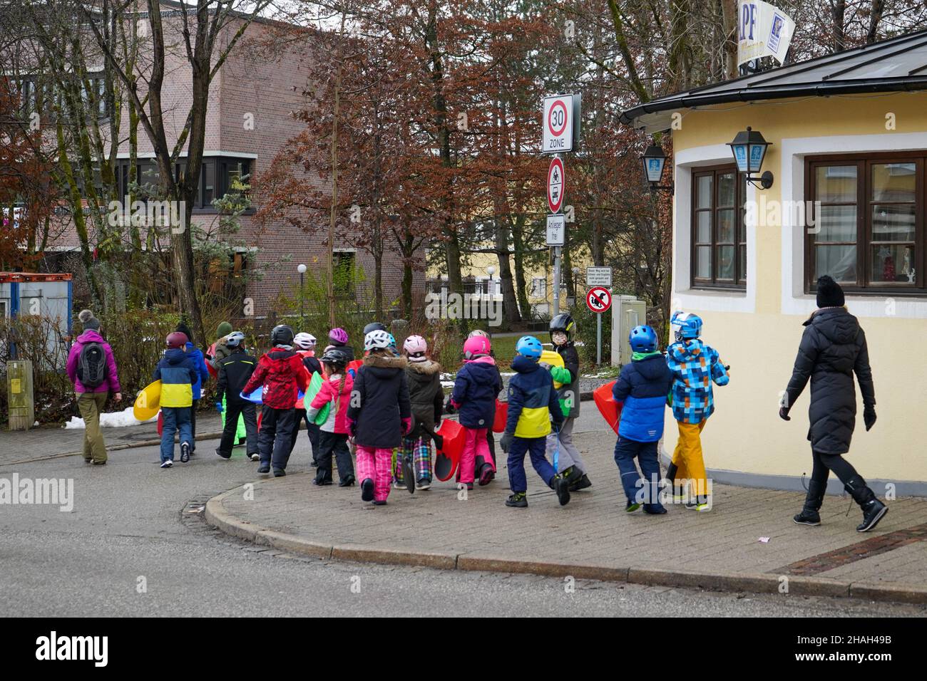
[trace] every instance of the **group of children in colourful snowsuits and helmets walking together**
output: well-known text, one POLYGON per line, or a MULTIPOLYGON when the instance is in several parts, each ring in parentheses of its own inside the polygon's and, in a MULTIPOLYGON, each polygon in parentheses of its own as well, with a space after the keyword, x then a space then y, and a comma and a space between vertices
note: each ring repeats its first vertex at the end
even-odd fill
MULTIPOLYGON (((677 313, 673 325, 677 339, 666 355, 657 350, 653 329, 634 328, 629 337, 632 361, 614 387, 616 401, 624 403, 615 460, 629 511, 642 506, 649 513, 666 512, 658 498, 656 443, 663 435, 667 401, 679 422, 679 444, 668 477, 692 480, 696 496, 690 508, 710 508, 699 433, 713 410, 711 382, 724 385, 728 374, 717 351, 698 338, 698 317, 677 313), (642 482, 635 459, 644 474, 642 482)), ((512 491, 506 506, 527 507, 526 456, 561 505, 569 502, 571 492, 591 486, 572 440, 579 413, 575 330, 576 322, 567 313, 551 322, 551 341, 562 367, 541 361, 544 349, 534 336, 524 336, 515 345, 500 442, 512 491)), ((273 347, 260 359, 248 354, 245 335, 227 323, 217 333, 220 338, 206 359, 218 379, 216 409, 224 426, 216 454, 222 459, 231 458, 241 439, 240 419, 248 459, 259 461, 258 472, 286 475, 300 423, 305 422, 312 465, 317 468, 313 483, 334 483, 334 459, 339 486, 360 483, 362 499, 382 505, 390 486, 431 486, 432 446, 441 446, 436 431, 443 416, 456 412, 464 429, 457 483, 472 490, 476 483, 486 486, 495 478, 492 425, 503 383, 486 332, 474 331, 464 342, 463 364, 446 401, 441 367, 428 358, 425 338, 407 337, 400 352, 396 339, 379 322, 364 328, 362 359, 354 359, 348 334, 340 328, 328 333, 328 345, 318 358, 315 337, 294 334, 286 325, 273 328, 273 347), (257 406, 249 399, 259 389, 260 430, 257 406)), ((172 465, 175 432, 180 432, 181 460, 189 460, 193 451, 192 413, 200 385, 209 377, 206 359, 194 347, 188 329, 182 326, 168 335, 167 350, 155 371, 162 383, 163 468, 172 465)))

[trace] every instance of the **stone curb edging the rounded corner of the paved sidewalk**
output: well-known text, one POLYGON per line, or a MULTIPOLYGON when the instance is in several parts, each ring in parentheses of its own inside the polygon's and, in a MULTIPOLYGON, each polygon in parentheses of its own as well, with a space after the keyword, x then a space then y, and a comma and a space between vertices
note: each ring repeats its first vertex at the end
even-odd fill
POLYGON ((245 539, 259 546, 285 550, 288 553, 299 553, 320 560, 370 562, 485 573, 538 574, 545 577, 574 577, 642 586, 699 588, 708 591, 749 591, 761 594, 780 593, 784 585, 787 590, 782 593, 791 596, 822 596, 836 599, 927 604, 927 587, 914 585, 887 586, 841 582, 826 577, 793 575, 786 575, 787 579, 785 579, 778 574, 699 573, 556 561, 521 561, 473 553, 405 551, 361 545, 329 546, 248 523, 229 513, 222 506, 222 501, 239 494, 241 489, 241 487, 235 487, 218 497, 210 498, 203 514, 206 522, 227 535, 245 539))

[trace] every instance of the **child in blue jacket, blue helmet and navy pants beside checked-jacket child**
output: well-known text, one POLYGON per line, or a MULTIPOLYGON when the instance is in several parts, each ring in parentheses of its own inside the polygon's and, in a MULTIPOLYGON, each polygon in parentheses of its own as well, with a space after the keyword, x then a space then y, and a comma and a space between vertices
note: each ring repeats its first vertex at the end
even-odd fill
POLYGON ((663 436, 663 417, 673 374, 663 353, 656 349, 656 334, 651 327, 635 326, 628 341, 633 350, 631 362, 622 367, 612 388, 615 401, 624 402, 615 462, 628 497, 625 510, 637 511, 642 505, 644 512, 656 515, 667 512, 658 497, 660 464, 656 443, 663 436), (642 480, 634 465, 635 458, 641 463, 642 480))

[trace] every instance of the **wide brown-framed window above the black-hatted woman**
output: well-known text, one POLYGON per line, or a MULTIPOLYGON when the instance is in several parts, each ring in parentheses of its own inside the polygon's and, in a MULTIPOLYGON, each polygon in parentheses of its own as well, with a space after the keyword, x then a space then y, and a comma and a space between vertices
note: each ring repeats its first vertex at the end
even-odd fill
POLYGON ((806 161, 806 291, 830 274, 858 293, 922 292, 927 153, 806 161))

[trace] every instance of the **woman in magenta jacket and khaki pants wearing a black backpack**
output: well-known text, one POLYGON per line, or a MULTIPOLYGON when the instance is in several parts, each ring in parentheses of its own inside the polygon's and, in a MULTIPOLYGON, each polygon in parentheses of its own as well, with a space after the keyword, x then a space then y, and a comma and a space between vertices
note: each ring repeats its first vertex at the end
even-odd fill
POLYGON ((109 393, 117 402, 122 399, 119 375, 113 350, 100 335, 100 321, 89 309, 82 310, 77 319, 83 325, 83 334, 70 347, 68 378, 74 384, 77 409, 83 419, 83 460, 103 465, 107 462, 107 445, 100 430, 100 414, 109 393))

